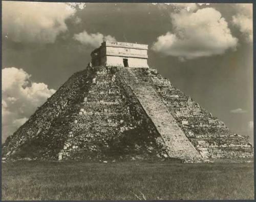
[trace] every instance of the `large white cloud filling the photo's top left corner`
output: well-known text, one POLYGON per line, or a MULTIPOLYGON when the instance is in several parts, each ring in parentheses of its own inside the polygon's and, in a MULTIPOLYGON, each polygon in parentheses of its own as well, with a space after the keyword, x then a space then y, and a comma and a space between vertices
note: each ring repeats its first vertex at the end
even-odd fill
POLYGON ((16 42, 53 43, 76 9, 65 3, 2 2, 3 34, 16 42))

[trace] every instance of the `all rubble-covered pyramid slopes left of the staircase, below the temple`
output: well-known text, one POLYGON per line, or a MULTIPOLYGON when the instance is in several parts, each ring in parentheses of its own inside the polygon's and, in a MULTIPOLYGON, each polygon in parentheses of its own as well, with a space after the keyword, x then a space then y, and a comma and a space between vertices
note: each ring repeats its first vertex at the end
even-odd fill
POLYGON ((30 118, 31 125, 25 123, 16 138, 9 138, 5 158, 147 158, 165 151, 154 124, 113 68, 75 74, 40 109, 30 118), (24 143, 13 147, 17 139, 24 143))

